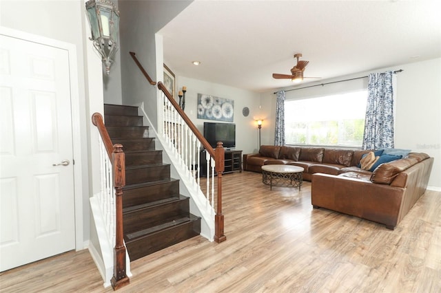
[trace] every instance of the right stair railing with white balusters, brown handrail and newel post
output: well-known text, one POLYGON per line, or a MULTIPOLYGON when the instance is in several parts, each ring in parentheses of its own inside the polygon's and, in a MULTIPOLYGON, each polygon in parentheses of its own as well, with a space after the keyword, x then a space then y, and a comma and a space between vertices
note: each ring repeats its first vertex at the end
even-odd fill
POLYGON ((163 136, 169 146, 172 146, 174 153, 178 156, 181 165, 187 170, 189 182, 193 182, 201 190, 201 146, 206 150, 205 160, 207 166, 207 186, 205 201, 207 208, 214 209, 214 241, 217 243, 225 241, 224 216, 222 213, 222 173, 225 167, 225 150, 223 143, 218 142, 215 149, 205 140, 200 131, 193 124, 179 107, 178 102, 167 91, 163 83, 158 82, 158 89, 163 92, 163 136), (217 201, 214 202, 214 177, 217 175, 217 201))

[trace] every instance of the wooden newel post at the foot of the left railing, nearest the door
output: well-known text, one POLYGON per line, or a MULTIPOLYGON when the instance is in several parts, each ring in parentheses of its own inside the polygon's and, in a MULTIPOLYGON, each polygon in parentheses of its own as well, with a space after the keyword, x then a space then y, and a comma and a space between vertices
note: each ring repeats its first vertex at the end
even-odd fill
POLYGON ((114 144, 112 152, 113 182, 116 204, 116 241, 114 249, 113 290, 128 285, 130 279, 125 271, 125 246, 123 234, 123 187, 125 186, 125 155, 121 144, 114 144))

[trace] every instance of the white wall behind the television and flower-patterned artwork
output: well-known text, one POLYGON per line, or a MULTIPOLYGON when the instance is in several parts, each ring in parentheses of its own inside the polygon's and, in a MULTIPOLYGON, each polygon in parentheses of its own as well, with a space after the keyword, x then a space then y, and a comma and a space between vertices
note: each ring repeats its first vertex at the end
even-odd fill
MULTIPOLYGON (((184 76, 177 76, 176 79, 176 91, 181 91, 183 86, 187 87, 187 92, 185 93, 185 113, 201 133, 203 133, 203 122, 215 121, 197 118, 198 94, 228 98, 234 100, 233 122, 236 123, 236 149, 243 151, 243 153, 255 153, 258 150, 258 128, 255 119, 261 118, 258 109, 260 105, 259 94, 254 91, 208 83, 184 76), (242 114, 243 107, 249 108, 249 115, 247 117, 242 114)), ((176 100, 178 100, 178 97, 176 97, 176 100)), ((263 130, 265 130, 265 124, 263 130)))

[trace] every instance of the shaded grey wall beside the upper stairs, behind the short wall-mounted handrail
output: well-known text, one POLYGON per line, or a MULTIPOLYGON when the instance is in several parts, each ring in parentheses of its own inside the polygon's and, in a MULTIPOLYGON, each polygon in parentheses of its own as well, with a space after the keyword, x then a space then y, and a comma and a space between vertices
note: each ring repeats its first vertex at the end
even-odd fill
POLYGON ((129 52, 136 53, 154 81, 162 80, 162 76, 156 76, 156 65, 162 65, 163 60, 156 59, 155 34, 191 2, 119 0, 123 104, 144 102, 145 112, 155 128, 158 117, 157 88, 147 82, 129 52))

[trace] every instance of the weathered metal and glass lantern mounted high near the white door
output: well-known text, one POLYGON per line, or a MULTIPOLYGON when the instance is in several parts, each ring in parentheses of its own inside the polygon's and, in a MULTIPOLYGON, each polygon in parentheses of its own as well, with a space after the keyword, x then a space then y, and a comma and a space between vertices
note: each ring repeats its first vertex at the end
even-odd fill
POLYGON ((119 11, 112 2, 90 0, 85 3, 96 51, 101 54, 105 72, 110 73, 114 54, 118 50, 119 11))

